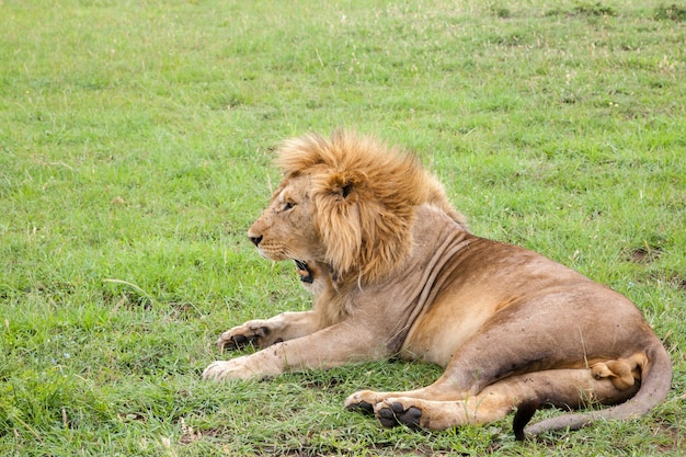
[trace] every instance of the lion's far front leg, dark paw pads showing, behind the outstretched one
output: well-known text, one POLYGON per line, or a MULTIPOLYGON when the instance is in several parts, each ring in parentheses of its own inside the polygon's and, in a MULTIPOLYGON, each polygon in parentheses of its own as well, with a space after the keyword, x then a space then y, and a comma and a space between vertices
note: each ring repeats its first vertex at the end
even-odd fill
POLYGON ((270 319, 251 320, 224 332, 217 340, 220 351, 247 345, 267 347, 282 341, 295 340, 321 329, 317 311, 283 312, 270 319))

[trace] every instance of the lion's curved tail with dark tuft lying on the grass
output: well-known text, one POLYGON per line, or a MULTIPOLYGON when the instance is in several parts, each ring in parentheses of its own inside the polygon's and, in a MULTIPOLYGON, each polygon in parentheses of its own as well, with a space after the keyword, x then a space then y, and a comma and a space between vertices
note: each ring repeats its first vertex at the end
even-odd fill
POLYGON ((513 421, 515 437, 523 439, 525 436, 534 436, 546 431, 578 430, 597 420, 627 419, 648 413, 667 397, 672 386, 672 365, 666 350, 656 338, 647 349, 647 355, 649 362, 641 379, 641 387, 631 399, 605 410, 547 419, 525 429, 539 407, 539 400, 534 399, 517 408, 513 421))

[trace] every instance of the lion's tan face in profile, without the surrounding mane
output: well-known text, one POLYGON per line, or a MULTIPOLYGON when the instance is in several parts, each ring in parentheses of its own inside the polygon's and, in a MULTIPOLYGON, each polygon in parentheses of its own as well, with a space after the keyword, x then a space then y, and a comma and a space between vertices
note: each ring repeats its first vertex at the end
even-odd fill
POLYGON ((248 237, 263 258, 310 263, 323 255, 312 224, 310 181, 309 174, 285 179, 262 216, 248 230, 248 237))

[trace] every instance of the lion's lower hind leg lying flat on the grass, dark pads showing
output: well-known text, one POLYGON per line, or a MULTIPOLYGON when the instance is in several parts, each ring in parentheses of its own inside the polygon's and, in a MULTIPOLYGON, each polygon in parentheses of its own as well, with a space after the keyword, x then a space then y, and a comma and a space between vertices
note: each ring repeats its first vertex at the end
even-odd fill
POLYGON ((418 397, 420 391, 408 392, 413 393, 409 397, 399 392, 400 397, 389 396, 378 401, 374 413, 384 426, 404 424, 411 429, 445 430, 496 421, 530 400, 560 408, 579 408, 590 402, 613 404, 625 401, 638 390, 638 384, 618 388, 617 375, 609 369, 603 374, 587 368, 551 369, 512 376, 476 396, 464 397, 455 390, 453 400, 446 399, 446 393, 439 398, 421 398, 418 397))

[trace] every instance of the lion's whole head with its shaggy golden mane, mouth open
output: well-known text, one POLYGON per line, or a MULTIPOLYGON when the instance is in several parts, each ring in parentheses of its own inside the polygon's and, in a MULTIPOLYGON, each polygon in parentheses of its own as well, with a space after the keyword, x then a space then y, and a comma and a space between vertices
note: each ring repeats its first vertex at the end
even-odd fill
MULTIPOLYGON (((277 152, 284 179, 248 236, 271 260, 328 265, 336 279, 375 281, 412 247, 416 208, 434 204, 465 226, 418 159, 366 137, 307 135, 277 152)), ((309 278, 311 279, 311 278, 309 278)))

